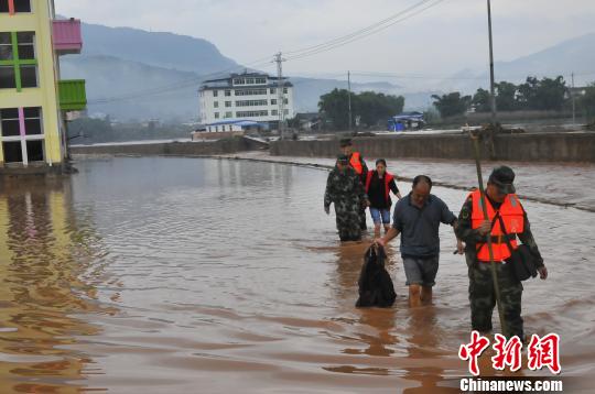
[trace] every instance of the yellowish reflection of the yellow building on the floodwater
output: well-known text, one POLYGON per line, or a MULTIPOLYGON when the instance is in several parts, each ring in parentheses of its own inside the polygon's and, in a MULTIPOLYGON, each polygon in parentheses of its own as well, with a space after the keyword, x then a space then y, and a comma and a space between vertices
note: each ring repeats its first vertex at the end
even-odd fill
POLYGON ((0 392, 75 392, 90 360, 68 348, 98 328, 73 315, 98 306, 80 280, 90 256, 72 215, 71 184, 1 186, 0 392))

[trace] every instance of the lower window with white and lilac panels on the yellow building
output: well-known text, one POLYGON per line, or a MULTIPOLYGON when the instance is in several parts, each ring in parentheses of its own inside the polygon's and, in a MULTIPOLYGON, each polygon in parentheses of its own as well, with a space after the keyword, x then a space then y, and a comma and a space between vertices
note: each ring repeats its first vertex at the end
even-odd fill
POLYGON ((44 135, 40 107, 0 109, 0 135, 6 163, 44 161, 44 135))

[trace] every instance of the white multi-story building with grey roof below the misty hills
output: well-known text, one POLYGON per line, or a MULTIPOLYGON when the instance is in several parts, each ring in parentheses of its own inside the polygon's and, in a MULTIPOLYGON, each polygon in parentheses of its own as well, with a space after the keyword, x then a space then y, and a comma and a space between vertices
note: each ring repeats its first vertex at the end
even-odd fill
POLYGON ((236 131, 242 121, 267 127, 279 124, 279 86, 283 89, 284 119, 295 116, 293 85, 267 74, 231 74, 226 78, 205 80, 201 86, 201 122, 207 131, 236 131))

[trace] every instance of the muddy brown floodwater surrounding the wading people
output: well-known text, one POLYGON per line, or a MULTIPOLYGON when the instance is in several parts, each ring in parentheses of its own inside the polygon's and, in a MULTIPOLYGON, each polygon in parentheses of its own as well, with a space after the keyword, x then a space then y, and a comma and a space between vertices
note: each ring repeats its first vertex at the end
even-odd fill
MULTIPOLYGON (((0 392, 436 393, 467 375, 467 270, 450 228, 434 305, 408 308, 394 242, 394 307, 356 309, 369 239, 337 242, 326 172, 165 157, 77 167, 2 184, 0 392)), ((458 214, 463 191, 434 193, 458 214)), ((526 208, 551 276, 526 283, 527 331, 561 335, 563 376, 588 392, 595 214, 526 208)))

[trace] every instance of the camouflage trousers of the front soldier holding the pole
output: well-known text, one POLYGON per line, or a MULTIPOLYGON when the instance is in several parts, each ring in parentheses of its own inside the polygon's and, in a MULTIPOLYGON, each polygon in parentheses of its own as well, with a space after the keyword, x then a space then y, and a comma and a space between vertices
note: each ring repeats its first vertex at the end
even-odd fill
MULTIPOLYGON (((523 339, 521 318, 522 283, 510 264, 496 263, 496 275, 500 288, 500 302, 508 337, 523 339)), ((469 267, 469 303, 472 328, 487 332, 491 330, 491 315, 496 307, 496 293, 489 263, 475 262, 469 267)))

